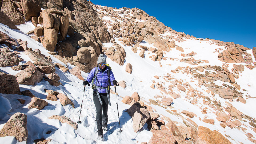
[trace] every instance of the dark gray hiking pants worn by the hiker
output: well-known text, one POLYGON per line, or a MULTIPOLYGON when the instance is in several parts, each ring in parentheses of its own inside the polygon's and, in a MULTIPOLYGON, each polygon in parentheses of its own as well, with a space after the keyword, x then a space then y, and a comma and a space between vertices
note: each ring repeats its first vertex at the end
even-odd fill
POLYGON ((93 91, 93 101, 96 107, 96 123, 98 135, 103 135, 102 126, 107 127, 107 107, 109 105, 109 101, 107 99, 107 93, 99 93, 99 96, 101 98, 102 105, 99 102, 96 91, 93 91))

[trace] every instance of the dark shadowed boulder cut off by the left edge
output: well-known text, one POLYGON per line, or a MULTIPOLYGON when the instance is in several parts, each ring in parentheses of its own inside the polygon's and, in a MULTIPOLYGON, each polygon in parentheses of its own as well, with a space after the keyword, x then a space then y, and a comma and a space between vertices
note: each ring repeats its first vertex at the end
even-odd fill
POLYGON ((0 93, 2 94, 19 94, 19 84, 14 75, 6 74, 0 71, 0 93))

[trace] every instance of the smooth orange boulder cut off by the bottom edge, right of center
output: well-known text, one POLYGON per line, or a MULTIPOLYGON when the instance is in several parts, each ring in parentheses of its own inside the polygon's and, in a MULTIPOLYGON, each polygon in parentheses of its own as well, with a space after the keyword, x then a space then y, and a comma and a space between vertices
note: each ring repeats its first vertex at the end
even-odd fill
POLYGON ((204 144, 231 144, 227 138, 221 133, 214 130, 211 131, 207 127, 199 126, 198 128, 198 143, 204 144))

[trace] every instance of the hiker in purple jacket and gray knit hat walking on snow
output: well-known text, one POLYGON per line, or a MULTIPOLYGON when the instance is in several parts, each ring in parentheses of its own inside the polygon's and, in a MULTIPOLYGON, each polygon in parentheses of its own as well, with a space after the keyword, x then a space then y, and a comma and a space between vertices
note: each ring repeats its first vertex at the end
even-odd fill
POLYGON ((98 139, 102 139, 103 130, 107 131, 107 107, 108 105, 111 106, 109 99, 110 85, 117 85, 117 81, 111 68, 106 66, 106 59, 103 57, 103 54, 99 55, 97 63, 98 66, 91 70, 83 84, 87 85, 93 81, 93 101, 97 113, 98 139))

